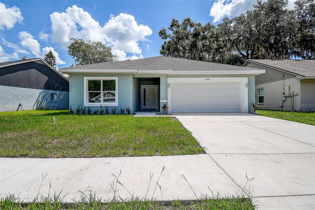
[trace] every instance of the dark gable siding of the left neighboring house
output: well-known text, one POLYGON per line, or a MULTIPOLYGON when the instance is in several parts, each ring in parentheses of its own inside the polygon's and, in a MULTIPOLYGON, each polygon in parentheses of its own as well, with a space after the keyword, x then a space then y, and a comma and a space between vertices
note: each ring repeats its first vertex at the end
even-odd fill
POLYGON ((36 88, 69 92, 69 82, 48 66, 36 62, 0 68, 0 84, 23 88, 36 88))

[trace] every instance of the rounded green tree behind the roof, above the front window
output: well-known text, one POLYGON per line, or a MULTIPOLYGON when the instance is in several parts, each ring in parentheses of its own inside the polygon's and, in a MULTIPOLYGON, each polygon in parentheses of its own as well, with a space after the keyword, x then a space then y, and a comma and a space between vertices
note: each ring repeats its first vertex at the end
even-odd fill
POLYGON ((74 64, 87 65, 116 61, 117 56, 112 54, 112 48, 105 46, 101 42, 84 41, 83 39, 72 38, 72 43, 68 47, 68 54, 75 58, 74 64))

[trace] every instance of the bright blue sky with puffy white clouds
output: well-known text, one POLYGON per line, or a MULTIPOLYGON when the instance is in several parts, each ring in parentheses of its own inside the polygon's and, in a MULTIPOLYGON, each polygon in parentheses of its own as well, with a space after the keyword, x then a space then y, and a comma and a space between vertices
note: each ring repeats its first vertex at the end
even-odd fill
POLYGON ((223 15, 250 9, 254 0, 215 1, 1 1, 0 60, 43 57, 50 49, 59 68, 72 65, 69 38, 101 41, 119 60, 159 55, 157 31, 172 18, 217 24, 223 15), (57 54, 58 53, 58 54, 57 54))

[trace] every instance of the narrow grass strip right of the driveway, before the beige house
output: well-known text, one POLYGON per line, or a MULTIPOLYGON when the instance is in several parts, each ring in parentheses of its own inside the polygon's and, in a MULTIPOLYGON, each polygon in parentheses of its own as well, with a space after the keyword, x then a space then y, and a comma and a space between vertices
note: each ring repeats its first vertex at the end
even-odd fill
POLYGON ((258 115, 315 125, 315 112, 257 110, 258 115))

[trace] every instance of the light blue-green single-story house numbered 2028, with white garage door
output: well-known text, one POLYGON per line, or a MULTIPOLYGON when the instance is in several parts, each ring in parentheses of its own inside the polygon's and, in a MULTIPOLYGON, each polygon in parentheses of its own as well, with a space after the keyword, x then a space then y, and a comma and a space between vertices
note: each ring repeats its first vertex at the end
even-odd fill
POLYGON ((157 56, 59 69, 70 77, 70 105, 130 107, 132 112, 252 113, 255 75, 265 71, 157 56))

